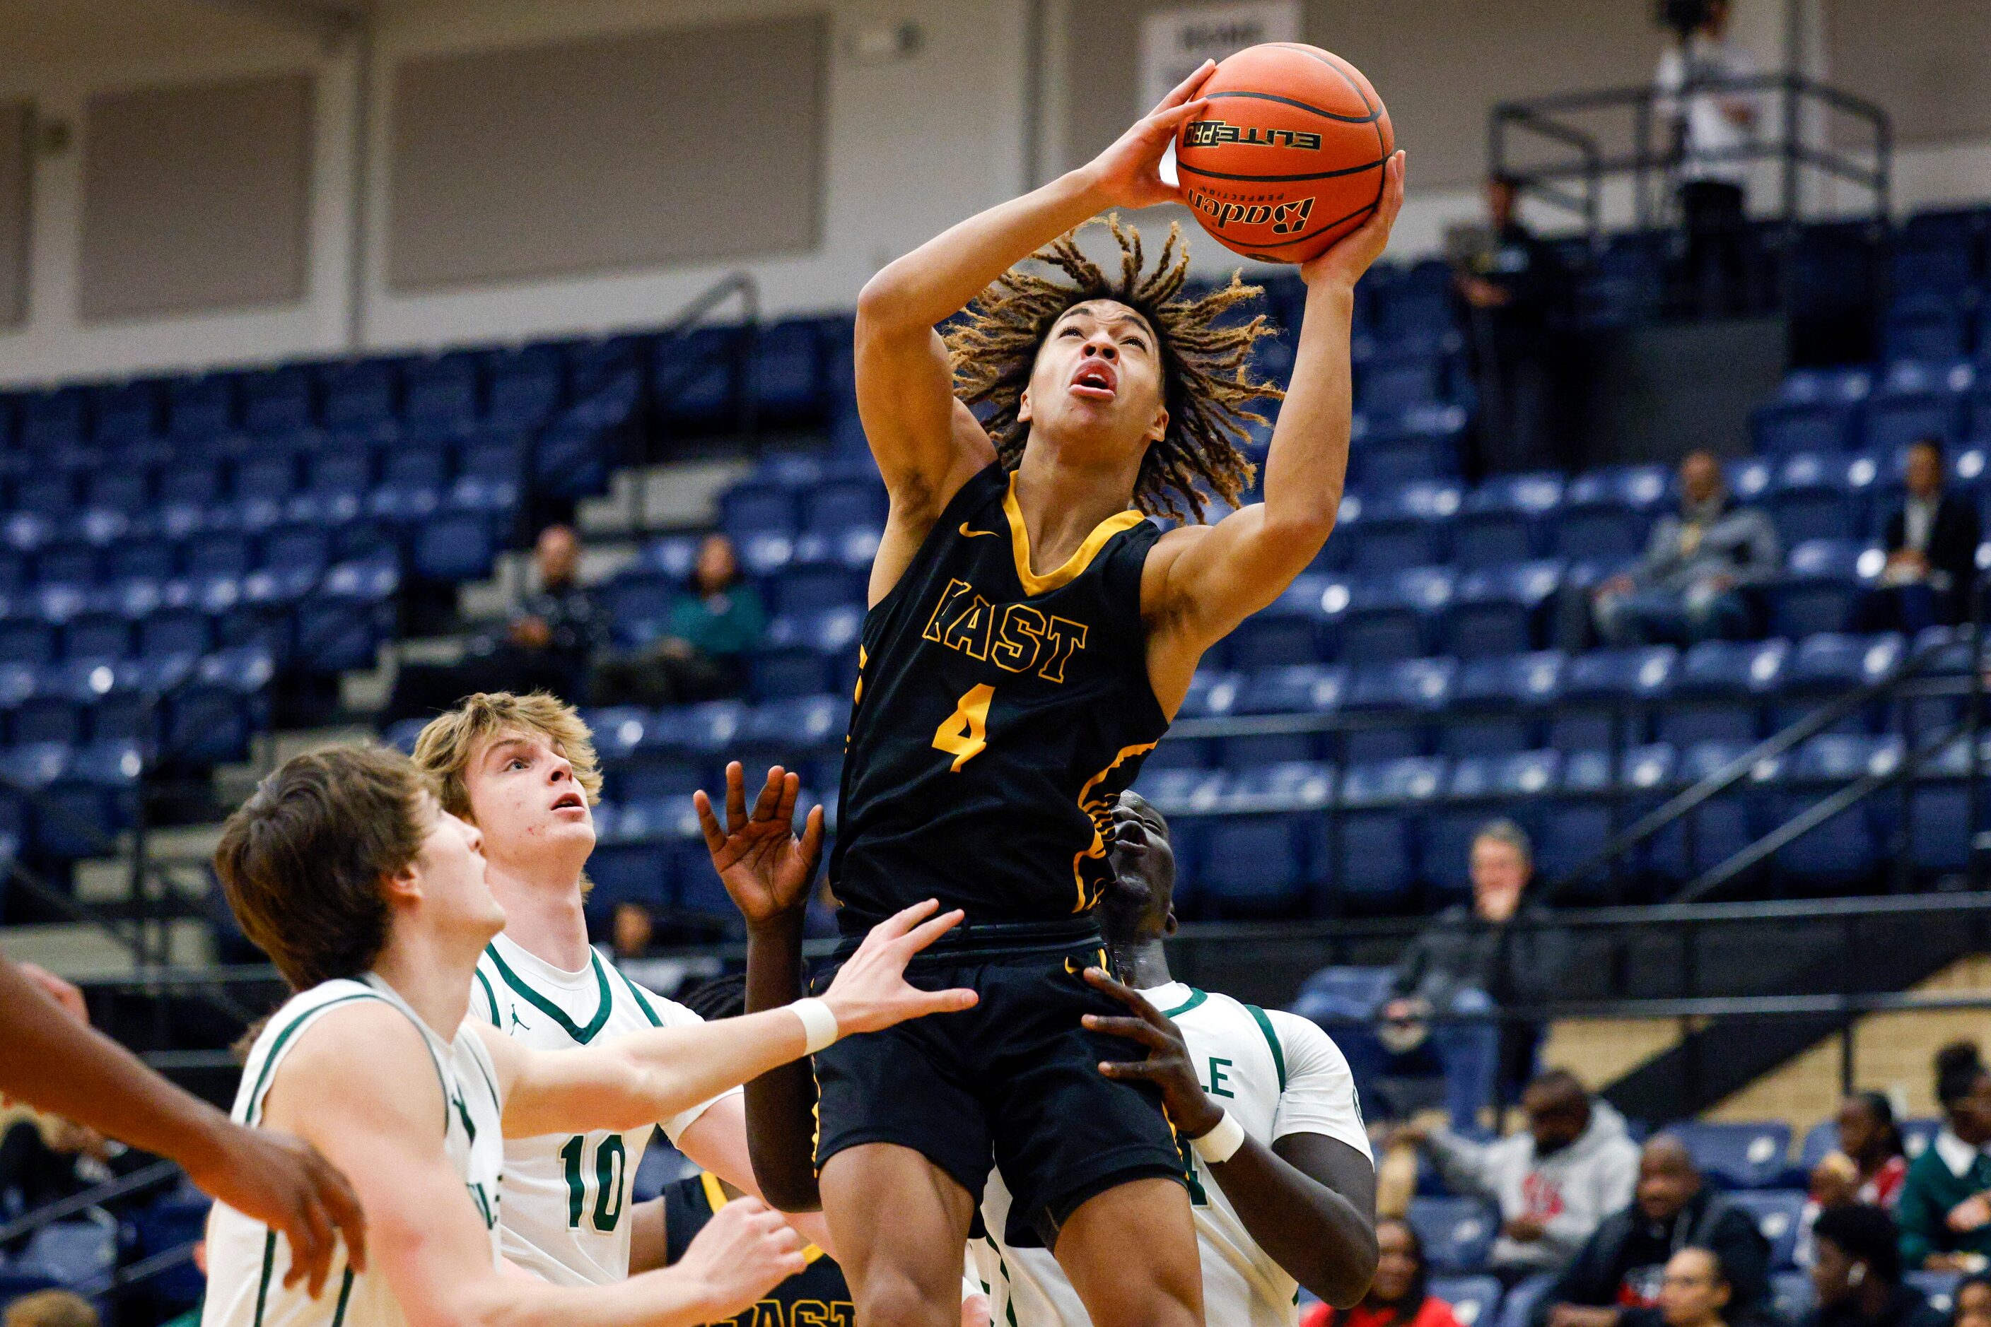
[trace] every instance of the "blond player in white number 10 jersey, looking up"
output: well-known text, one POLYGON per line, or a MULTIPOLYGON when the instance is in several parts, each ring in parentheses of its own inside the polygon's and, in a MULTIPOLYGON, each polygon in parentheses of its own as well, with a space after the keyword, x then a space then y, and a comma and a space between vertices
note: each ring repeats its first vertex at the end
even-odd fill
MULTIPOLYGON (((472 1015, 534 1050, 699 1023, 587 945, 581 869, 595 848, 591 804, 601 772, 573 706, 544 692, 468 696, 422 728, 414 762, 436 780, 442 806, 484 834, 492 893, 506 909, 504 935, 478 959, 472 1015)), ((763 943, 759 929, 749 931, 749 943, 763 943)), ((761 1198, 737 1090, 657 1124, 701 1168, 761 1198)), ((607 1285, 665 1265, 663 1202, 631 1198, 649 1136, 643 1126, 510 1140, 506 1257, 559 1285, 607 1285)), ((810 1243, 826 1245, 820 1218, 792 1224, 810 1243)))

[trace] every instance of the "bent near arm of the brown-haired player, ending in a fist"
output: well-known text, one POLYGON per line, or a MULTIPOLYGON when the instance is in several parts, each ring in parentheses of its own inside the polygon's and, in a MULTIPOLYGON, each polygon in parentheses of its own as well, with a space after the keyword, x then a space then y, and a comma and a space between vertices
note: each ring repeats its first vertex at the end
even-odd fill
POLYGON ((802 1269, 800 1237, 778 1214, 741 1200, 747 1212, 721 1232, 723 1265, 707 1259, 601 1287, 498 1275, 484 1216, 444 1152, 444 1110, 420 1033, 374 1001, 319 1019, 277 1068, 265 1104, 269 1120, 311 1138, 352 1176, 378 1233, 376 1263, 410 1323, 691 1327, 739 1313, 802 1269))

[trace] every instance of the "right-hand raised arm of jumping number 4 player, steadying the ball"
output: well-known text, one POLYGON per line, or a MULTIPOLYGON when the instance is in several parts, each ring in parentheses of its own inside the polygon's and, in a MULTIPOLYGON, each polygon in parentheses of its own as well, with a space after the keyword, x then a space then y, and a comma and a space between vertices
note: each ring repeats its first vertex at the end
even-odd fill
POLYGON ((1141 605, 1161 627, 1151 651, 1165 651, 1171 661, 1187 653, 1189 670, 1205 649, 1278 599, 1334 529, 1354 424, 1348 356, 1354 290, 1382 257, 1402 207, 1404 153, 1398 151, 1384 163, 1382 205, 1360 229, 1300 267, 1306 314, 1264 462, 1264 501, 1217 525, 1173 529, 1149 557, 1141 605))

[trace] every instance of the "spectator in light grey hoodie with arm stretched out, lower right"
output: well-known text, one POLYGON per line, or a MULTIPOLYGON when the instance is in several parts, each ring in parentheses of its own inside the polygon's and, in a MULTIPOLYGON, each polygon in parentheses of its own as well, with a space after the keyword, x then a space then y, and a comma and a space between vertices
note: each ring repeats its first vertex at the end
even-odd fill
POLYGON ((1497 1142, 1420 1126, 1398 1130, 1396 1140, 1424 1148, 1455 1192, 1499 1204, 1491 1269, 1519 1283, 1515 1303, 1533 1303, 1597 1224, 1631 1202, 1639 1148, 1625 1118, 1565 1068, 1537 1074, 1521 1092, 1521 1112, 1527 1128, 1497 1142))

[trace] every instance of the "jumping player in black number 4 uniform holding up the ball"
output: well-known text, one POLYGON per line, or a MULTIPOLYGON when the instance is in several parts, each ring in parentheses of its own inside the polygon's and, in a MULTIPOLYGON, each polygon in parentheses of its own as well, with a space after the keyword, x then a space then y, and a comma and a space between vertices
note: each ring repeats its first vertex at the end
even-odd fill
MULTIPOLYGON (((906 899, 964 907, 968 925, 908 977, 980 991, 974 1011, 814 1058, 822 1208, 864 1327, 958 1321, 992 1158, 1015 1196, 1011 1224, 1025 1228, 1011 1233, 1053 1249, 1093 1323, 1203 1321, 1181 1154, 1159 1098, 1105 1078, 1097 1064, 1125 1048, 1079 1023, 1119 1013, 1079 975, 1103 963, 1089 913, 1109 879, 1115 796, 1197 661, 1272 603, 1334 525, 1354 284, 1404 195, 1398 153, 1380 167, 1372 219, 1300 269, 1306 314, 1264 501, 1201 523, 1199 485, 1238 495, 1250 464, 1234 438, 1256 418, 1250 400, 1276 396, 1248 374, 1270 328, 1222 318, 1254 290, 1181 298, 1175 235, 1147 273, 1139 239, 1117 225, 1115 281, 1069 231, 1175 199, 1159 161, 1203 105, 1193 94, 1207 72, 1089 165, 956 225, 858 300, 858 412, 890 515, 830 885, 848 937, 906 899), (1033 255, 1069 281, 1011 269, 1033 255), (964 306, 944 340, 934 326, 964 306), (1163 533, 1143 513, 1191 519, 1163 533)), ((729 790, 735 806, 745 820, 729 790)), ((703 796, 701 812, 725 865, 703 796)), ((749 921, 769 925, 751 909, 749 921)), ((749 1007, 765 997, 751 981, 749 1007)), ((751 1092, 749 1112, 771 1092, 751 1092)), ((776 1206, 812 1188, 794 1180, 794 1160, 755 1154, 776 1206)))

